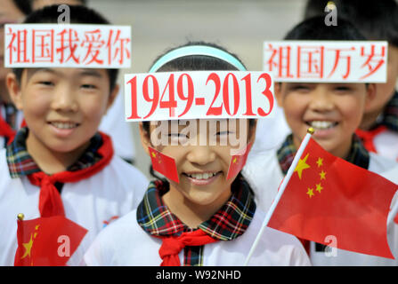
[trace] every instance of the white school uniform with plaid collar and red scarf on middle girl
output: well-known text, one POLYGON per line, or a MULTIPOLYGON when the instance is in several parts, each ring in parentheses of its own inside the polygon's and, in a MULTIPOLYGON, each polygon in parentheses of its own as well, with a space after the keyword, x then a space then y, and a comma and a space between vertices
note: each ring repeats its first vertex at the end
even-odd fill
MULTIPOLYGON (((167 254, 173 253, 177 258, 175 265, 243 265, 261 228, 264 212, 256 208, 244 179, 237 178, 231 188, 229 201, 197 229, 191 229, 163 203, 168 184, 151 182, 139 207, 105 228, 93 241, 85 253, 85 264, 167 265, 167 257, 171 257, 167 254), (183 245, 173 242, 189 233, 202 233, 202 237, 213 241, 202 245, 191 245, 194 240, 183 245)), ((295 237, 266 227, 248 264, 310 263, 295 237)))

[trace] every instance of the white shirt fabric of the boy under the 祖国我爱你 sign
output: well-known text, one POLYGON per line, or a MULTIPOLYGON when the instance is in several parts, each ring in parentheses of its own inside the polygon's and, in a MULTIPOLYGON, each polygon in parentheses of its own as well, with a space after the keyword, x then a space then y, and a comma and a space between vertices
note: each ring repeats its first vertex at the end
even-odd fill
MULTIPOLYGON (((40 217, 40 191, 30 184, 28 177, 10 177, 5 152, 5 149, 0 150, 0 265, 13 265, 17 249, 17 215, 23 213, 25 220, 40 217)), ((142 172, 118 156, 92 177, 64 184, 61 200, 66 217, 88 230, 69 264, 81 263, 86 248, 106 222, 135 209, 148 185, 142 172)))

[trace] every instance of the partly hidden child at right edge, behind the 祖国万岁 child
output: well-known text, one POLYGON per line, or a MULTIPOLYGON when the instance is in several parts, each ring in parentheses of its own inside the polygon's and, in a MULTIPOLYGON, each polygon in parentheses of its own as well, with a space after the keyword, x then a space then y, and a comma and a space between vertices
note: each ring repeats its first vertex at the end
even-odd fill
MULTIPOLYGON (((388 42, 387 80, 378 83, 376 99, 365 109, 357 135, 368 151, 398 161, 398 5, 395 0, 337 0, 335 4, 338 19, 350 20, 369 40, 388 42)), ((306 14, 315 6, 309 1, 306 14)))

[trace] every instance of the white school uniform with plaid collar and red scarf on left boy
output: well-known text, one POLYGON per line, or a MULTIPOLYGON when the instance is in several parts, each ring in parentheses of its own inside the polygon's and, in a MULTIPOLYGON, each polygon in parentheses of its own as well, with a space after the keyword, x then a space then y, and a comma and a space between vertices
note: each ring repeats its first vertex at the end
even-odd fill
MULTIPOLYGON (((82 177, 76 182, 55 182, 53 185, 56 189, 53 190, 61 193, 57 192, 58 198, 61 196, 61 204, 49 208, 41 195, 47 189, 43 186, 47 185, 35 185, 35 178, 45 174, 28 154, 27 137, 28 129, 22 128, 12 144, 0 150, 0 265, 14 263, 19 213, 23 213, 26 220, 64 214, 87 229, 85 239, 69 262, 79 264, 86 248, 104 225, 136 208, 142 200, 148 180, 139 170, 113 155, 110 138, 97 133, 90 140, 85 153, 65 172, 73 174, 93 168, 96 171, 92 176, 82 177), (104 154, 103 149, 110 149, 110 153, 104 154), (109 159, 107 163, 102 168, 95 168, 105 158, 109 159)), ((58 173, 47 177, 56 175, 58 173)))

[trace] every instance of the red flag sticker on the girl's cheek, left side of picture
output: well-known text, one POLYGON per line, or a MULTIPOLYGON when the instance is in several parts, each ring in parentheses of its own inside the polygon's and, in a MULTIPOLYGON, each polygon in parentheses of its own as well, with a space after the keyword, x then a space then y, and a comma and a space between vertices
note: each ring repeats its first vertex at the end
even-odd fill
POLYGON ((149 147, 149 150, 153 170, 156 170, 163 176, 175 181, 176 183, 179 183, 180 179, 178 178, 178 171, 177 167, 175 166, 175 159, 167 156, 166 154, 161 154, 151 147, 149 147))

